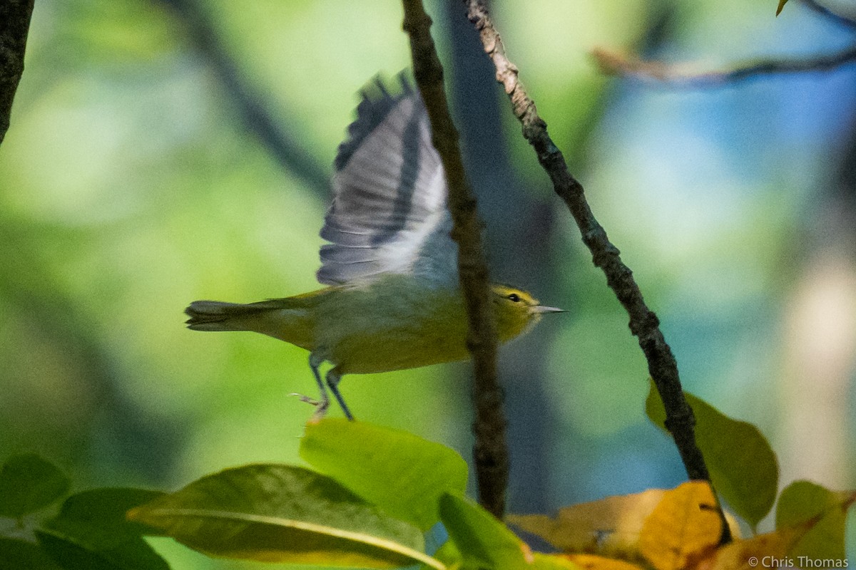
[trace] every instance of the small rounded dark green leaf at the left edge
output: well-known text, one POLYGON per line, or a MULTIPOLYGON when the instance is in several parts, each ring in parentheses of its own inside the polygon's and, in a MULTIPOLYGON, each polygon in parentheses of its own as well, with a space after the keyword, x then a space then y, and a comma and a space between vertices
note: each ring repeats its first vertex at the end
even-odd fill
POLYGON ((47 507, 68 491, 68 478, 35 454, 15 455, 0 469, 0 516, 14 519, 47 507))

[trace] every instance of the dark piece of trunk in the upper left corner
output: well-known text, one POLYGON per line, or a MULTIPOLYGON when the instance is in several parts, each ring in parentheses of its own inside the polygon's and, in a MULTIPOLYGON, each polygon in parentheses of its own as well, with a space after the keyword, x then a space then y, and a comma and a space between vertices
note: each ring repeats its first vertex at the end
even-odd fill
POLYGON ((9 130, 9 115, 24 73, 24 51, 33 15, 33 0, 0 2, 0 144, 9 130))

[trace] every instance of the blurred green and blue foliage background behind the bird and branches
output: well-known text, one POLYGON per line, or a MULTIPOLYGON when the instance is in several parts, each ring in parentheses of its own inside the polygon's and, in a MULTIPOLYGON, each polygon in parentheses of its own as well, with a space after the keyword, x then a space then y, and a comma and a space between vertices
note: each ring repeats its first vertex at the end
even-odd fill
MULTIPOLYGON (((497 1, 494 14, 663 321, 685 383, 757 423, 780 457, 800 405, 817 417, 847 412, 841 440, 812 449, 835 459, 817 472, 835 475, 824 485, 852 487, 853 363, 837 398, 794 398, 785 381, 807 261, 835 243, 839 267, 853 261, 824 217, 847 208, 830 189, 851 160, 852 70, 680 91, 603 78, 586 55, 627 46, 708 68, 848 38, 799 5, 773 20, 766 4, 497 1), (660 36, 649 32, 655 24, 660 36)), ((316 390, 302 350, 181 325, 194 299, 252 302, 318 287, 327 200, 323 179, 312 184, 277 161, 247 125, 194 22, 211 24, 253 102, 319 172, 329 172, 354 93, 408 65, 396 3, 211 0, 193 3, 200 11, 189 20, 176 5, 187 3, 39 1, 0 149, 0 458, 37 451, 84 487, 168 488, 225 466, 298 461, 311 413, 288 397, 316 390)), ((462 9, 429 9, 460 91, 476 73, 451 56, 460 38, 449 22, 462 9)), ((487 167, 507 162, 502 183, 516 192, 479 188, 495 278, 570 311, 502 351, 517 414, 511 507, 673 485, 680 462, 646 423, 647 371, 627 317, 491 88, 476 107, 499 109, 502 156, 487 167)), ((467 142, 473 152, 491 141, 467 142)), ((359 417, 469 457, 468 373, 460 364, 352 376, 342 391, 359 417)), ((170 560, 222 567, 185 551, 170 560)))

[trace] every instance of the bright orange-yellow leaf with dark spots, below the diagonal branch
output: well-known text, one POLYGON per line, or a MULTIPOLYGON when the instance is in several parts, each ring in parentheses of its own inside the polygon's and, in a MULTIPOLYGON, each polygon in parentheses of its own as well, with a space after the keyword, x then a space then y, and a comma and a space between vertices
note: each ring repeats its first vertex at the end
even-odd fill
POLYGON ((710 485, 690 481, 666 491, 645 519, 639 552, 657 570, 679 570, 709 556, 719 544, 721 532, 710 485))

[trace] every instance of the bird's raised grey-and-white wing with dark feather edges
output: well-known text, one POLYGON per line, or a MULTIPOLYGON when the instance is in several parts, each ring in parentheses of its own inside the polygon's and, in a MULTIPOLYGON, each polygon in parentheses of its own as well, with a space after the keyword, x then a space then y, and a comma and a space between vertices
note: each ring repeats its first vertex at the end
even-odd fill
POLYGON ((381 273, 455 281, 446 179, 419 93, 406 79, 390 94, 380 79, 362 91, 357 118, 334 163, 318 281, 342 284, 381 273))

